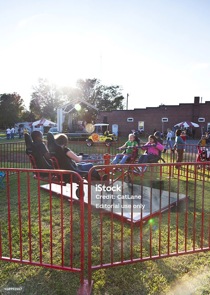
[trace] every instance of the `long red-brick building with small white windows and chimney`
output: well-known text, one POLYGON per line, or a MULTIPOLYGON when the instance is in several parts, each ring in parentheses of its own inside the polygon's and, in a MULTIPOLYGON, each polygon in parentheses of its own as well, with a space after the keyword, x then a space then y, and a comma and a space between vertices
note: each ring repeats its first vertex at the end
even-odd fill
MULTIPOLYGON (((132 129, 143 128, 145 133, 153 134, 154 129, 163 132, 167 128, 173 130, 173 126, 183 121, 191 121, 202 125, 203 132, 210 131, 210 101, 200 103, 200 97, 194 98, 193 104, 166 105, 147 107, 146 109, 113 110, 100 112, 99 121, 106 120, 111 126, 118 125, 121 136, 127 136, 132 129)), ((104 122, 105 123, 105 122, 104 122)), ((201 137, 201 128, 194 128, 195 138, 201 137)))

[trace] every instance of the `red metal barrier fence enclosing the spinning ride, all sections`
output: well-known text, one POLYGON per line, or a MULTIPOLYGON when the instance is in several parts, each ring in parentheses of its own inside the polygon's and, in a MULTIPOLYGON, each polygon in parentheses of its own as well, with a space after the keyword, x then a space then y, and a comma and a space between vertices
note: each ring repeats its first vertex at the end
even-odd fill
MULTIPOLYGON (((122 145, 123 143, 114 143, 111 147, 107 147, 96 143, 90 148, 87 147, 86 142, 69 143, 69 147, 74 152, 82 151, 88 155, 96 153, 103 155, 106 151, 114 155, 116 148, 122 145)), ((175 162, 176 152, 173 154, 168 149, 162 155, 166 161, 175 162)), ((91 273, 96 269, 210 250, 209 162, 196 162, 196 158, 197 147, 193 145, 186 146, 186 155, 183 160, 187 160, 188 163, 109 165, 110 156, 103 155, 101 160, 104 160, 106 165, 97 168, 101 168, 107 173, 110 180, 109 183, 106 182, 103 190, 97 193, 97 198, 96 194, 93 194, 96 192, 96 185, 91 185, 91 171, 93 170, 91 168, 88 173, 89 284, 91 283, 91 273), (190 161, 191 163, 189 163, 190 161), (178 166, 178 169, 175 166, 178 166), (122 171, 114 170, 117 167, 122 171), (147 167, 147 170, 143 175, 138 175, 135 171, 136 167, 147 167), (120 196, 117 196, 119 211, 116 211, 114 206, 110 208, 105 206, 114 205, 114 197, 101 197, 110 195, 110 191, 114 195, 112 193, 114 187, 115 190, 116 187, 119 189, 120 196), (126 194, 140 196, 140 198, 129 199, 128 202, 126 198, 122 198, 126 194), (91 210, 96 201, 99 204, 100 232, 94 232, 94 240, 92 240, 91 235, 93 235, 94 229, 91 227, 91 210), (125 207, 126 204, 131 206, 129 210, 128 207, 125 207), (134 205, 139 205, 139 207, 134 207, 134 205), (147 206, 144 207, 144 205, 147 206), (168 212, 162 214, 166 211, 168 212), (104 222, 104 212, 110 215, 108 222, 107 220, 104 222), (120 224, 118 222, 117 226, 115 218, 120 220, 120 224), (129 225, 124 221, 129 222, 129 225), (135 227, 134 224, 140 225, 140 227, 135 227), (92 255, 93 250, 91 249, 95 248, 99 251, 92 255), (110 249, 109 255, 107 255, 107 249, 110 249)), ((80 203, 81 224, 76 224, 76 227, 80 226, 81 229, 80 251, 76 253, 76 257, 73 249, 74 215, 72 204, 73 197, 75 197, 72 189, 72 175, 77 175, 79 178, 80 195, 82 196, 83 180, 81 176, 74 172, 63 172, 71 174, 71 206, 68 210, 68 214, 70 212, 70 227, 67 227, 63 219, 63 189, 61 186, 60 243, 58 243, 60 247, 55 248, 54 239, 56 237, 52 224, 55 216, 58 219, 58 216, 54 215, 58 212, 52 206, 51 174, 54 171, 45 171, 50 173, 49 199, 46 203, 48 194, 40 191, 39 177, 38 181, 32 180, 31 173, 35 170, 28 169, 29 160, 25 155, 24 143, 1 144, 1 167, 1 171, 6 172, 7 181, 7 194, 1 199, 1 202, 2 204, 6 202, 7 213, 1 212, 0 260, 78 272, 81 275, 81 284, 83 284, 83 198, 80 203), (11 165, 19 165, 20 168, 6 167, 11 167, 11 165), (27 169, 24 169, 25 166, 27 169), (36 196, 34 196, 35 191, 37 191, 36 196), (50 212, 48 216, 45 216, 46 206, 50 212), (43 227, 46 220, 49 232, 47 239, 45 239, 46 233, 43 227), (66 229, 70 229, 70 232, 66 232, 66 229), (37 237, 38 245, 35 243, 37 237), (65 241, 68 239, 70 239, 70 256, 65 258, 64 247, 65 241), (61 256, 60 261, 58 261, 58 253, 61 256)), ((43 172, 43 170, 36 171, 43 172)), ((1 207, 3 208, 3 206, 1 207)))

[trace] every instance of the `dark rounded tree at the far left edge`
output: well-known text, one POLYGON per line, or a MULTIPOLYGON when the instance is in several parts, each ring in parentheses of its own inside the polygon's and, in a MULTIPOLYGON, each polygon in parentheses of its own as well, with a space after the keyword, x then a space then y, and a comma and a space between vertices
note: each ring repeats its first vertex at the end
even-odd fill
POLYGON ((0 95, 0 124, 11 127, 19 122, 25 111, 23 99, 16 92, 0 95))

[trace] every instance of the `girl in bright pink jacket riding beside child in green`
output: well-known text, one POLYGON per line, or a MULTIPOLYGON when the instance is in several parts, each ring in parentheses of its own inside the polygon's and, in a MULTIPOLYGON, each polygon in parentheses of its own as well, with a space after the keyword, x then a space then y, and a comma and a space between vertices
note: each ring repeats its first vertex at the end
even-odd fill
MULTIPOLYGON (((157 137, 154 135, 149 136, 149 141, 145 145, 150 145, 149 147, 140 145, 142 150, 147 150, 147 154, 141 155, 139 158, 138 164, 146 164, 148 160, 155 159, 156 156, 159 155, 159 151, 163 150, 163 145, 157 141, 157 137)), ((139 167, 140 172, 142 172, 141 167, 139 167)), ((147 169, 147 167, 143 168, 143 172, 147 169)))

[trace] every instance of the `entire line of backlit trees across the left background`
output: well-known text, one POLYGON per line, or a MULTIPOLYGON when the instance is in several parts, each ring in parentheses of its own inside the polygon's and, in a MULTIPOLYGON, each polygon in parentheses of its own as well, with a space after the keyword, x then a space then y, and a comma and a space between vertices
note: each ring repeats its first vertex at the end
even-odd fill
MULTIPOLYGON (((98 79, 78 79, 76 88, 59 87, 48 79, 38 79, 38 86, 32 86, 29 111, 24 101, 16 92, 0 94, 0 125, 12 126, 17 122, 34 122, 45 118, 57 120, 57 108, 76 98, 81 98, 96 106, 100 111, 124 109, 122 88, 118 85, 105 86, 98 79)), ((86 116, 84 110, 78 116, 86 116)))

